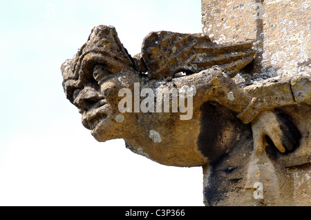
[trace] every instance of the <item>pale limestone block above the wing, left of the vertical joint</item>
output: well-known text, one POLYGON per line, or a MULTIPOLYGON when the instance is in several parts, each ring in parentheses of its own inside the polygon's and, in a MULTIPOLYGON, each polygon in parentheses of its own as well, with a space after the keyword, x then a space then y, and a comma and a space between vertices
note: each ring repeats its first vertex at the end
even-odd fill
POLYGON ((218 43, 256 39, 256 1, 202 0, 202 30, 218 43))

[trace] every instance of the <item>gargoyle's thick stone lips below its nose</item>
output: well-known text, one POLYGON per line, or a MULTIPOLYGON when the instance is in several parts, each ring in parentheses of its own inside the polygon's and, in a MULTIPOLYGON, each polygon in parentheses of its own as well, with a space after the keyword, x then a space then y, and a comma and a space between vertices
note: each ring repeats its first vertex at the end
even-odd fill
POLYGON ((99 123, 106 121, 108 118, 108 104, 100 106, 99 108, 93 108, 85 113, 82 119, 82 124, 89 130, 93 130, 99 123))

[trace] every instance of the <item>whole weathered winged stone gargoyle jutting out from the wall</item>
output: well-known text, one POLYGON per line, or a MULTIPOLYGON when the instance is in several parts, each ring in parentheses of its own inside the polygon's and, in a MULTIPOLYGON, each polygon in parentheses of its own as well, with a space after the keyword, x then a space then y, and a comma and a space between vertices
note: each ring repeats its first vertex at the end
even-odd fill
MULTIPOLYGON (((247 164, 270 157, 266 146, 288 155, 310 125, 299 127, 285 109, 310 112, 310 76, 238 85, 232 77, 252 61, 252 43, 151 32, 132 58, 115 28, 97 26, 63 63, 64 91, 97 141, 122 138, 133 152, 168 166, 210 170, 243 139, 252 146, 247 164)), ((213 199, 206 203, 217 205, 213 199)))

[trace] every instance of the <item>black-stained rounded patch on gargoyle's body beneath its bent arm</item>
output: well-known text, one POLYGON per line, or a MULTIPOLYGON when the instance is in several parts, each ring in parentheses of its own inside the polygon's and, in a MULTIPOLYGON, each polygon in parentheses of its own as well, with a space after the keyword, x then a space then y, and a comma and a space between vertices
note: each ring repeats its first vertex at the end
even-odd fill
POLYGON ((202 104, 198 150, 212 162, 225 154, 238 140, 243 123, 236 114, 216 103, 202 104))

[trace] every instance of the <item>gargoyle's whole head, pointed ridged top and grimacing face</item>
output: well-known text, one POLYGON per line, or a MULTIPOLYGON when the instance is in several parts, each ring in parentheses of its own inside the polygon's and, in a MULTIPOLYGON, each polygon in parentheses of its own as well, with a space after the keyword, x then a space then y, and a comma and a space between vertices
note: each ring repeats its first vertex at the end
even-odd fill
POLYGON ((133 88, 133 83, 139 81, 132 66, 115 28, 109 26, 93 28, 75 57, 62 65, 67 98, 77 106, 82 124, 97 141, 122 137, 120 124, 115 123, 118 91, 133 88))

